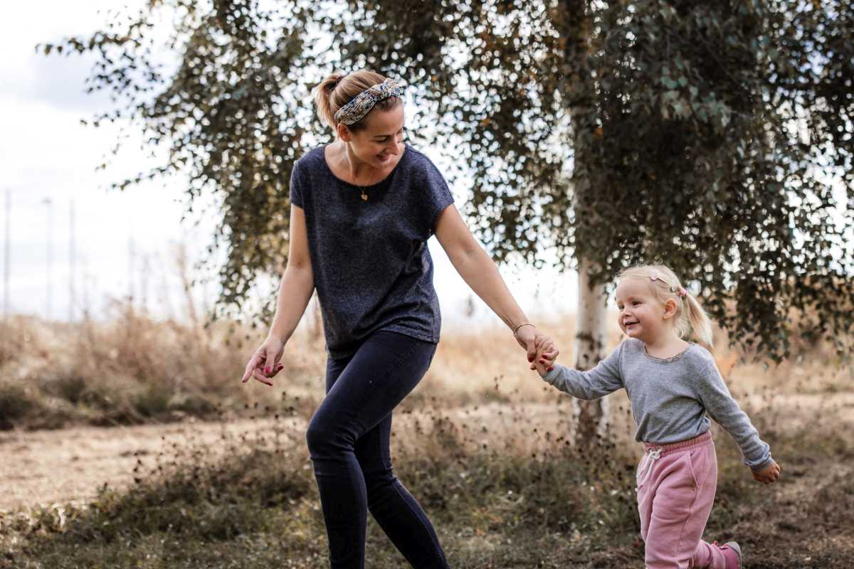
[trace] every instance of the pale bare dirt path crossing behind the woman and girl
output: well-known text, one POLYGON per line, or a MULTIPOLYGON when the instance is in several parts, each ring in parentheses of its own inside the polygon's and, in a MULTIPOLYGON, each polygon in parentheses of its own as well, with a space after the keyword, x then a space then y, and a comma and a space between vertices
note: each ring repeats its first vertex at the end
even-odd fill
MULTIPOLYGON (((754 409, 761 398, 751 398, 754 409)), ((854 392, 834 394, 829 404, 843 424, 854 427, 854 392)), ((776 396, 774 412, 788 417, 788 426, 798 427, 828 412, 827 396, 776 396)), ((564 410, 553 404, 487 404, 449 409, 460 423, 489 429, 488 437, 514 433, 524 428, 511 415, 524 413, 538 424, 558 426, 566 420, 564 410)), ((395 432, 404 437, 407 423, 429 421, 418 413, 395 418, 395 432)), ((564 426, 565 427, 565 426, 564 426)), ((143 468, 153 466, 155 457, 173 444, 190 438, 218 449, 223 433, 251 438, 273 429, 300 437, 305 421, 299 418, 274 423, 267 419, 243 419, 227 422, 184 421, 167 425, 136 427, 73 427, 58 431, 11 432, 0 434, 0 512, 56 502, 85 501, 97 494, 105 483, 114 489, 133 484, 137 461, 143 468)), ((485 431, 484 431, 485 432, 485 431)))

